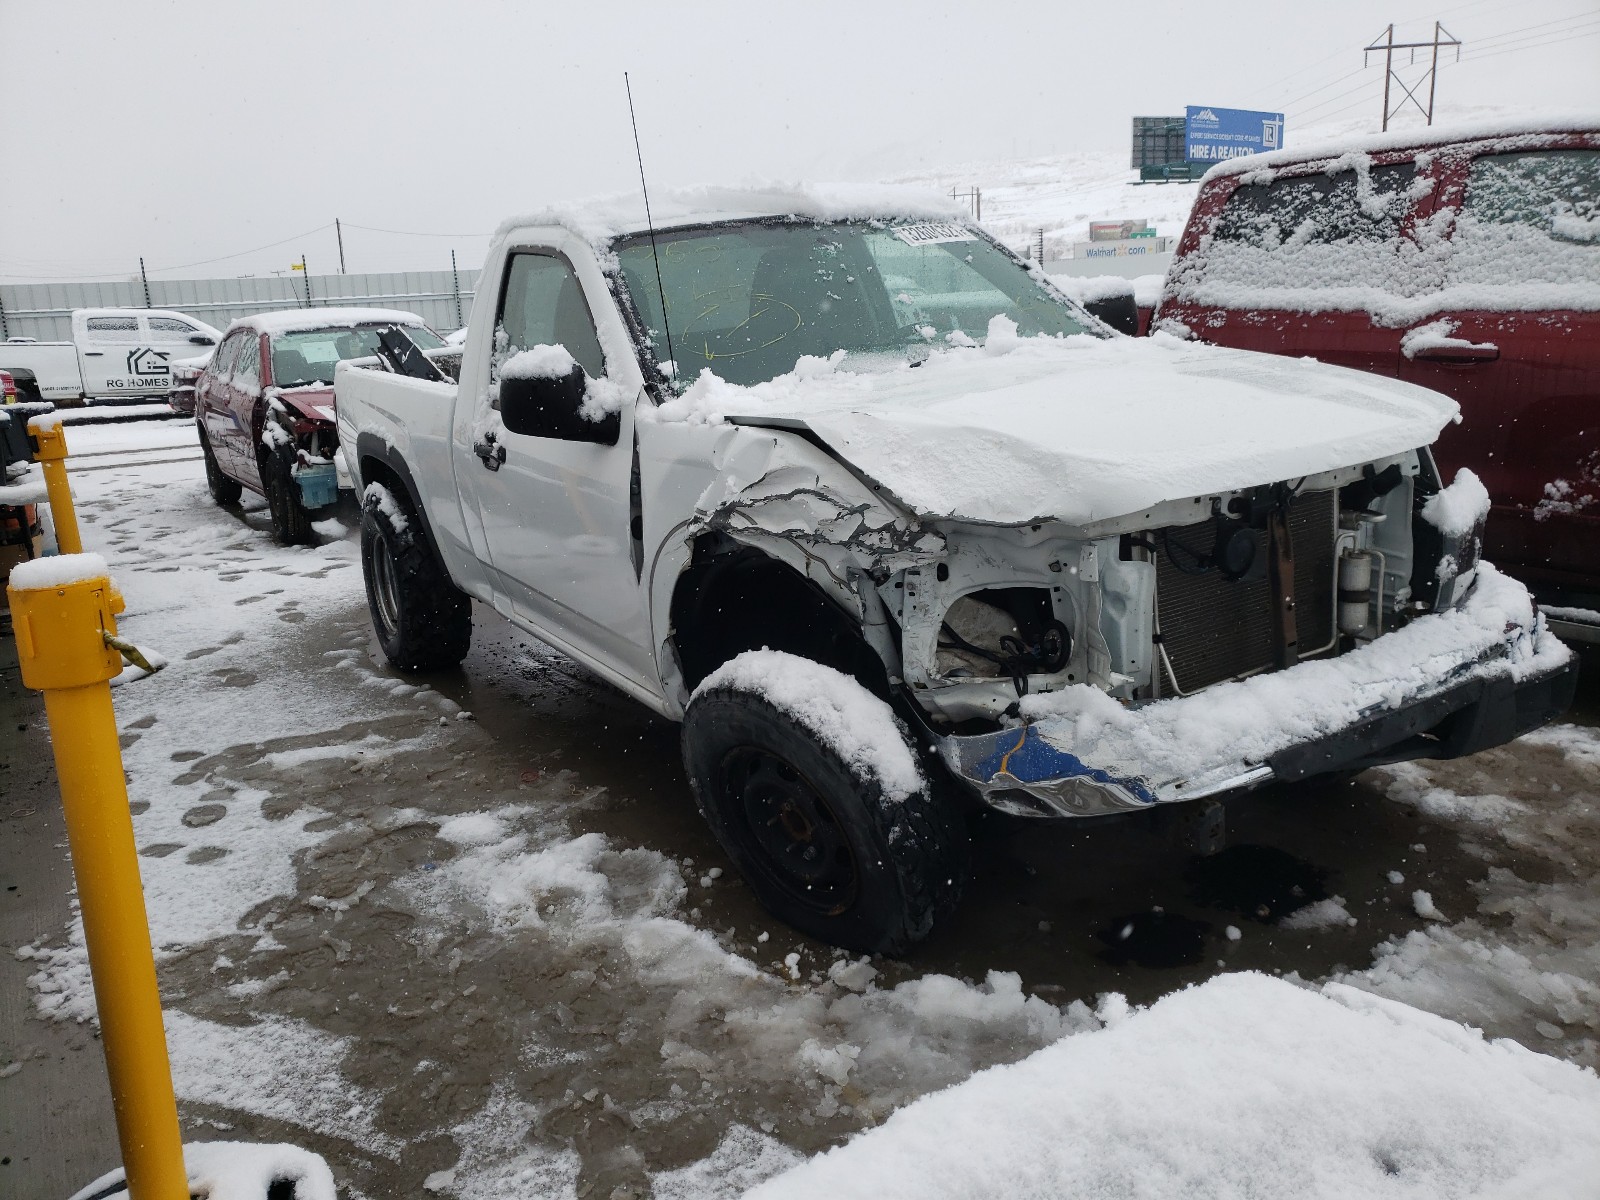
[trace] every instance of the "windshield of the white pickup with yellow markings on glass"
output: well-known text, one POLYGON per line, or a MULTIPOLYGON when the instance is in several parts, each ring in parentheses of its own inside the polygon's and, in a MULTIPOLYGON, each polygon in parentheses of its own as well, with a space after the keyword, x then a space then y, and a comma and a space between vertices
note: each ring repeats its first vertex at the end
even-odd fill
POLYGON ((675 386, 702 368, 734 384, 794 370, 800 355, 925 357, 982 342, 1005 315, 1022 336, 1091 333, 1093 322, 1016 259, 955 222, 763 221, 656 235, 672 352, 650 237, 618 245, 627 290, 675 386))

